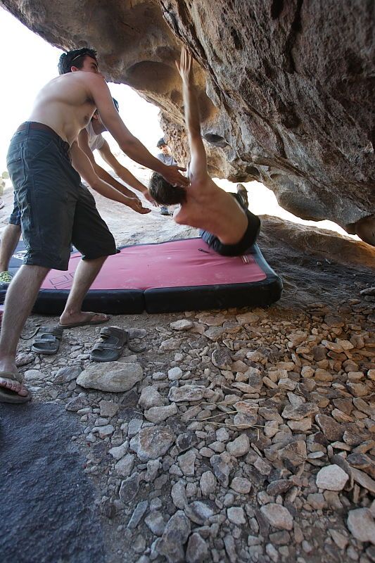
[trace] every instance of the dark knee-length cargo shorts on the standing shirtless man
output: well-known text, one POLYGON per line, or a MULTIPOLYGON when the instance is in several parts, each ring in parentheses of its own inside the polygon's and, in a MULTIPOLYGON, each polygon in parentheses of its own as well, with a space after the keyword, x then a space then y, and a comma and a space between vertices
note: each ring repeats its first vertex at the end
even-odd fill
POLYGON ((32 123, 15 132, 6 157, 27 251, 23 263, 68 270, 71 244, 83 260, 115 254, 113 235, 70 163, 68 143, 32 123))

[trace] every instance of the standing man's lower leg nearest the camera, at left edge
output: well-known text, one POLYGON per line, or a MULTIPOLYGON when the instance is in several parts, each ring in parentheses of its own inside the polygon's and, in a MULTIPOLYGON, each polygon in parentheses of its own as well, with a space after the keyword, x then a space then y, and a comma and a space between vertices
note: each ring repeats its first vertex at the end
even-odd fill
MULTIPOLYGON (((0 333, 0 372, 18 373, 15 353, 20 334, 48 271, 49 268, 42 266, 23 265, 6 292, 0 333)), ((0 376, 0 386, 21 396, 27 395, 25 387, 18 381, 2 379, 0 376)))

